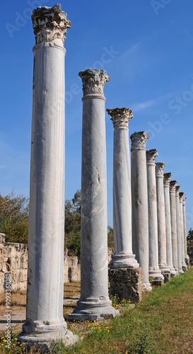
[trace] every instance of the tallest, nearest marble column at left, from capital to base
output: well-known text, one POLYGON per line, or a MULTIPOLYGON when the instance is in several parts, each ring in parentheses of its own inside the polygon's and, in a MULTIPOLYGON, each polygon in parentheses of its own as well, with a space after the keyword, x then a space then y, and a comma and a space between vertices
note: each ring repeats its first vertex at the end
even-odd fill
POLYGON ((64 298, 64 38, 71 23, 59 4, 35 8, 28 288, 21 343, 49 346, 67 331, 64 298))

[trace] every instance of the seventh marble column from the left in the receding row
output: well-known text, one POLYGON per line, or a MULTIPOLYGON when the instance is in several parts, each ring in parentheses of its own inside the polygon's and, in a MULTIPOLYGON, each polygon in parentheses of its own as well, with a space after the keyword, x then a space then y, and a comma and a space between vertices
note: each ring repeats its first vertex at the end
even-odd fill
POLYGON ((166 235, 166 263, 170 268, 170 273, 174 277, 177 275, 172 261, 172 229, 170 214, 170 178, 172 173, 163 174, 164 200, 165 200, 165 235, 166 235))

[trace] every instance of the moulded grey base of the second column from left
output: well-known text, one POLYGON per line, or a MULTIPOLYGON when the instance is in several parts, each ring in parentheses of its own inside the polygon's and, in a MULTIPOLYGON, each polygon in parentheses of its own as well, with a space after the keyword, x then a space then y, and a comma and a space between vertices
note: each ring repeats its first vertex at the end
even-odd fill
POLYGON ((81 301, 78 300, 74 312, 68 315, 69 321, 100 321, 109 317, 115 317, 119 310, 112 307, 112 301, 81 301))

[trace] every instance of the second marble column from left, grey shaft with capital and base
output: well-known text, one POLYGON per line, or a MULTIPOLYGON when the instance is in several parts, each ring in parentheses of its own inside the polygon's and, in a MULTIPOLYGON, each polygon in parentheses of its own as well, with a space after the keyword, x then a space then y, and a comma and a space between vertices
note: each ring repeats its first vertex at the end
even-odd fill
POLYGON ((103 69, 79 72, 83 81, 81 178, 81 298, 69 319, 115 316, 108 295, 105 97, 103 69))

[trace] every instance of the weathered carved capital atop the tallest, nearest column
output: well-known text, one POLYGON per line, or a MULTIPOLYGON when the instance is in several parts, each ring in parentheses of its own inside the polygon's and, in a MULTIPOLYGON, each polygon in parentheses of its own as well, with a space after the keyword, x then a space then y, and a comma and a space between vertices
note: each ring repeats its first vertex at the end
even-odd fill
POLYGON ((67 28, 71 27, 66 16, 60 4, 35 8, 32 15, 35 43, 52 42, 63 47, 67 28))

